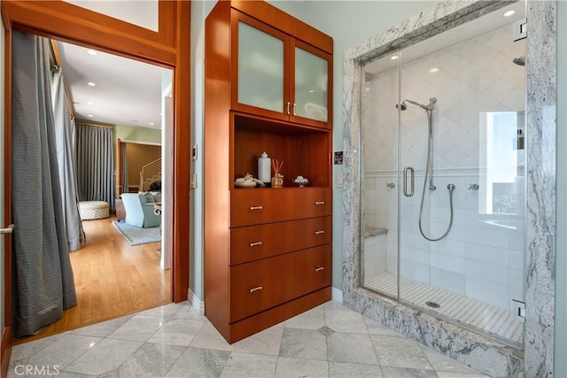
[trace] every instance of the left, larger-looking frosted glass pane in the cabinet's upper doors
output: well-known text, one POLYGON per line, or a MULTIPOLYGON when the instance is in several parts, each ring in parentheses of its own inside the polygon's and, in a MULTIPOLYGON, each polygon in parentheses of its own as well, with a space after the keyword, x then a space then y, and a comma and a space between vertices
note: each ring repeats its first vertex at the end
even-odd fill
POLYGON ((238 21, 238 104, 285 112, 284 45, 283 39, 238 21))

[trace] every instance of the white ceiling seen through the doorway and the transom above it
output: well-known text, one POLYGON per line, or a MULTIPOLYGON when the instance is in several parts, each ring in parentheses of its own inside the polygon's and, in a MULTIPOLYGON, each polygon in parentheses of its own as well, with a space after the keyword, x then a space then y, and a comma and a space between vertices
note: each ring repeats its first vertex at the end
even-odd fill
MULTIPOLYGON (((157 1, 67 2, 141 27, 157 27, 157 1)), ((162 81, 171 82, 171 70, 102 51, 91 55, 89 49, 66 42, 57 42, 57 47, 76 120, 161 126, 162 81)))

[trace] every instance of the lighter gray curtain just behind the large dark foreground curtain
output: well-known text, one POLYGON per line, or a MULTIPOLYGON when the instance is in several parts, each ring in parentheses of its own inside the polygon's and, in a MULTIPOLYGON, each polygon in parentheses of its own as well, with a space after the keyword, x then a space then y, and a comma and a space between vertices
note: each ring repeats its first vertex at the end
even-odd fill
POLYGON ((55 122, 55 142, 61 183, 63 203, 63 223, 65 224, 69 251, 81 248, 82 222, 79 214, 76 177, 76 132, 74 120, 67 103, 63 72, 57 68, 53 73, 51 94, 53 98, 53 119, 55 122))

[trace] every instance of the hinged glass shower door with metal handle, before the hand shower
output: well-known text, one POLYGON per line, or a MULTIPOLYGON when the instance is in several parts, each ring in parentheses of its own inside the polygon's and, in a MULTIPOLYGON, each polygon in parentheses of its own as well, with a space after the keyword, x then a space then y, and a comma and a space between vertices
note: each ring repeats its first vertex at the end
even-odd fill
POLYGON ((510 306, 524 300, 525 73, 512 23, 524 9, 512 6, 490 15, 499 25, 401 51, 400 175, 411 167, 415 193, 400 189, 400 301, 521 344, 510 306))

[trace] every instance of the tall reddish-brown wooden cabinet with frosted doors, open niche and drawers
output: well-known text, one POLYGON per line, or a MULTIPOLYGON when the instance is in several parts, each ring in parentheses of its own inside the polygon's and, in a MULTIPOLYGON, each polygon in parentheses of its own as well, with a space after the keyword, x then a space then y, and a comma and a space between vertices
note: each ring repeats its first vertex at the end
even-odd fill
POLYGON ((205 38, 205 309, 234 343, 330 300, 332 39, 260 1, 205 38), (235 188, 263 151, 283 188, 235 188))

